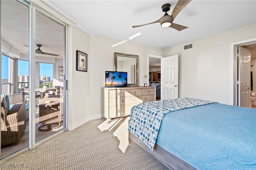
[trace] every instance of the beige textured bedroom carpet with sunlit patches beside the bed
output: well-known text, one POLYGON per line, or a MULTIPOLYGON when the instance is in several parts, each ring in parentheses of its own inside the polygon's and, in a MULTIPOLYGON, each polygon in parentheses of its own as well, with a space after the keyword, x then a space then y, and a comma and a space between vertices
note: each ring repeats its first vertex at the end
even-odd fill
POLYGON ((1 170, 167 170, 134 141, 128 144, 128 119, 89 121, 1 163, 1 170))

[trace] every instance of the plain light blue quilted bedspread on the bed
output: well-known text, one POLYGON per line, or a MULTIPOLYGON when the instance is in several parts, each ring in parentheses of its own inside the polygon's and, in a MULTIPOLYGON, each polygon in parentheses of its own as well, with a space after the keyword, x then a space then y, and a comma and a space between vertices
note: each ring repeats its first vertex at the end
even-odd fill
POLYGON ((256 109, 214 103, 168 113, 156 144, 199 170, 256 170, 256 109))

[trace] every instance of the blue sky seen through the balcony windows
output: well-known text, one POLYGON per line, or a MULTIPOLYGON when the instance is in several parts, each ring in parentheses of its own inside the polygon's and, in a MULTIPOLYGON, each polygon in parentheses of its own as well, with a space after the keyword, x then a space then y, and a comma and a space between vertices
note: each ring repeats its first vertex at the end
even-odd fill
MULTIPOLYGON (((18 60, 18 75, 28 75, 28 61, 18 60)), ((40 75, 53 78, 53 64, 40 63, 40 75)), ((8 57, 2 55, 2 79, 8 79, 8 57)))

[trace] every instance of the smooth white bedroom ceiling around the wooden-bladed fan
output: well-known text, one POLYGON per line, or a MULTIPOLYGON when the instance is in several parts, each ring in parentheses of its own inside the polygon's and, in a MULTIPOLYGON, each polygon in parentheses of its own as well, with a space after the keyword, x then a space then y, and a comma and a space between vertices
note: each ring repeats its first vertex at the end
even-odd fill
POLYGON ((171 15, 177 0, 42 1, 90 35, 123 41, 141 32, 128 42, 163 49, 256 23, 255 0, 192 0, 174 19, 174 23, 188 27, 180 32, 159 23, 132 28, 158 20, 166 3, 171 4, 171 15))

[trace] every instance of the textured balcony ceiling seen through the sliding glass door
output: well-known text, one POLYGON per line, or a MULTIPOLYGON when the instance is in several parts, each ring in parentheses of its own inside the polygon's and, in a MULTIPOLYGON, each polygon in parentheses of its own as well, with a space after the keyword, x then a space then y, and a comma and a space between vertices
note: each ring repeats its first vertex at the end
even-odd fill
MULTIPOLYGON (((1 38, 2 43, 10 45, 10 50, 18 51, 28 57, 29 9, 18 1, 1 1, 1 38), (4 42, 3 42, 4 41, 4 42)), ((43 52, 59 54, 36 54, 38 57, 63 58, 64 26, 36 12, 35 43, 41 44, 43 52)), ((6 45, 6 46, 7 46, 6 45)), ((37 47, 36 47, 37 49, 37 47)))

